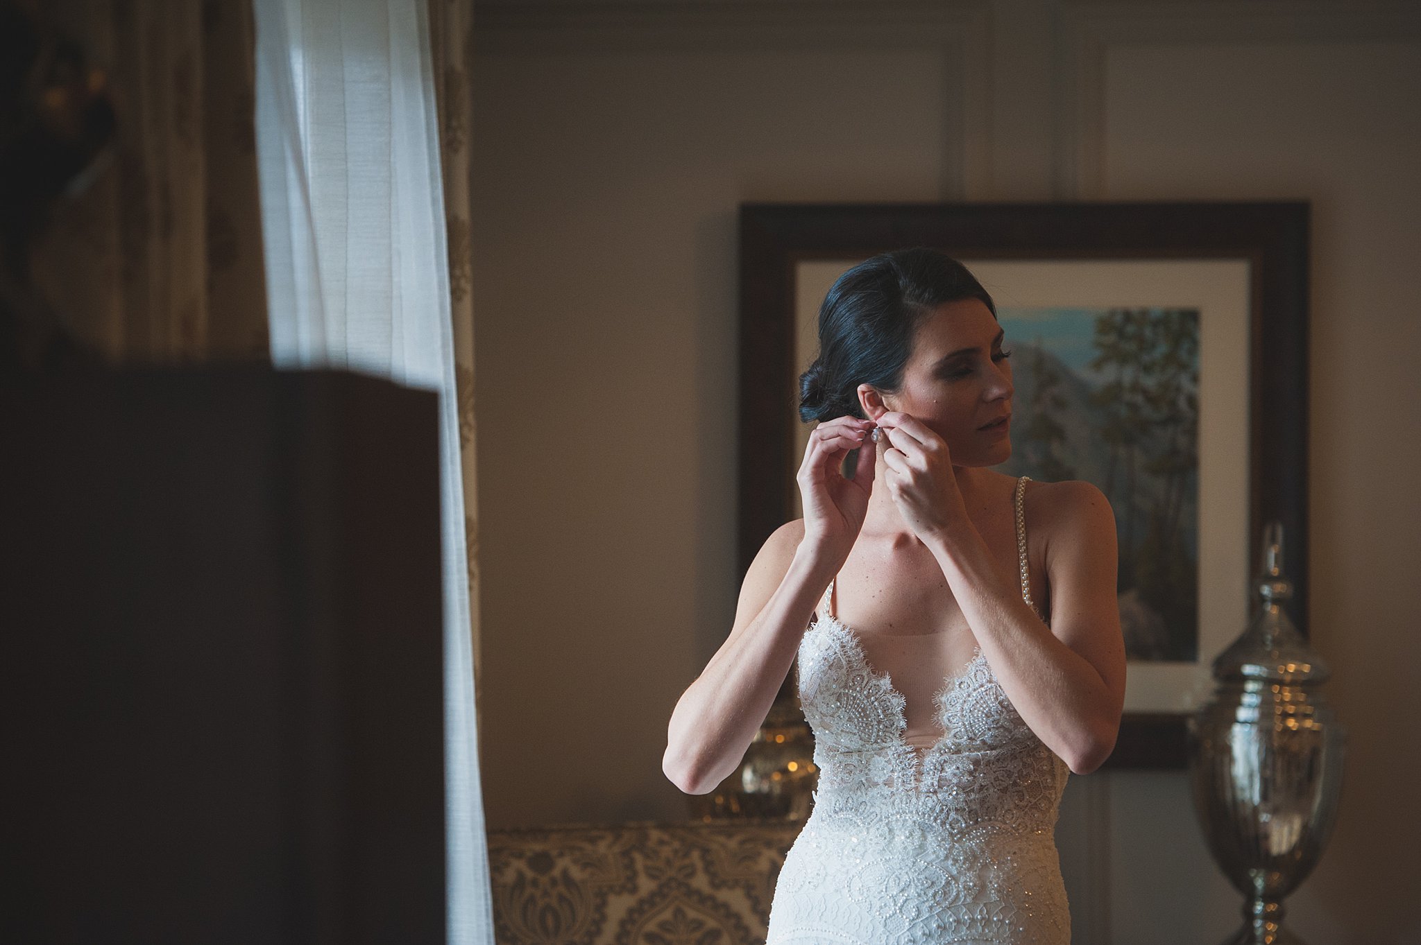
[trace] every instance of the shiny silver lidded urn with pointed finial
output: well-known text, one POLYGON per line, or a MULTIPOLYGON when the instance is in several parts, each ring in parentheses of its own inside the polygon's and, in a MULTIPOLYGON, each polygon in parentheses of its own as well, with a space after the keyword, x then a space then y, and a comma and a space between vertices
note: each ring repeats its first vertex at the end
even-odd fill
POLYGON ((1263 529, 1259 609, 1214 661, 1214 698, 1188 719, 1194 806, 1209 851, 1245 895, 1226 945, 1302 942, 1283 898, 1312 873, 1337 819, 1347 732, 1317 691, 1327 664, 1283 602, 1283 528, 1263 529))

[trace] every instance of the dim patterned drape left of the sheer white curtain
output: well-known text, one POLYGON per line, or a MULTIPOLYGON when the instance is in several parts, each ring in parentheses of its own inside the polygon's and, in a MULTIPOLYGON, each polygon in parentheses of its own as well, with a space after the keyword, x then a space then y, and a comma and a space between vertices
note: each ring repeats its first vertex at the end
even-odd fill
POLYGON ((118 121, 34 248, 45 304, 109 362, 269 360, 250 1, 41 6, 118 121))

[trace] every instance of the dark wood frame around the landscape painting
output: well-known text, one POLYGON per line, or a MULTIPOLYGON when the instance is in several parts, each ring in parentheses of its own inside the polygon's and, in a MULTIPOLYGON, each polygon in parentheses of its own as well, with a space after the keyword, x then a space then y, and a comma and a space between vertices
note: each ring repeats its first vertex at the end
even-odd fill
MULTIPOLYGON (((912 245, 963 260, 1245 260, 1248 560, 1259 560, 1263 522, 1280 521, 1290 614, 1307 634, 1306 201, 743 204, 739 237, 739 575, 793 516, 794 482, 783 471, 799 465, 790 451, 800 262, 912 245)), ((1184 768, 1185 715, 1127 712, 1106 766, 1184 768)))

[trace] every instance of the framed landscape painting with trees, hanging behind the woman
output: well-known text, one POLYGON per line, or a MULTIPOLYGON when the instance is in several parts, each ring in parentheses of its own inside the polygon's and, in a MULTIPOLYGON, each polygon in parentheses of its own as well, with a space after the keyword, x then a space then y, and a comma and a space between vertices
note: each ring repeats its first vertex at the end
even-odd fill
POLYGON ((797 518, 797 380, 847 268, 929 245, 992 295, 1013 359, 1012 458, 1110 499, 1130 657, 1107 768, 1182 768, 1184 719, 1242 633, 1263 522, 1283 524, 1307 633, 1309 206, 746 204, 739 568, 797 518))

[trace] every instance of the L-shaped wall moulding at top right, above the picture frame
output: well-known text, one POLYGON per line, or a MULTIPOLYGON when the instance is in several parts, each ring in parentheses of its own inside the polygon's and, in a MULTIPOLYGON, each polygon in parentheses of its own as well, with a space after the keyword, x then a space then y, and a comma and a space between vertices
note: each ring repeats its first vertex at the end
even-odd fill
POLYGON ((1106 57, 1114 45, 1206 43, 1417 43, 1421 4, 1337 0, 1064 3, 1056 82, 1060 200, 1106 193, 1106 57))

